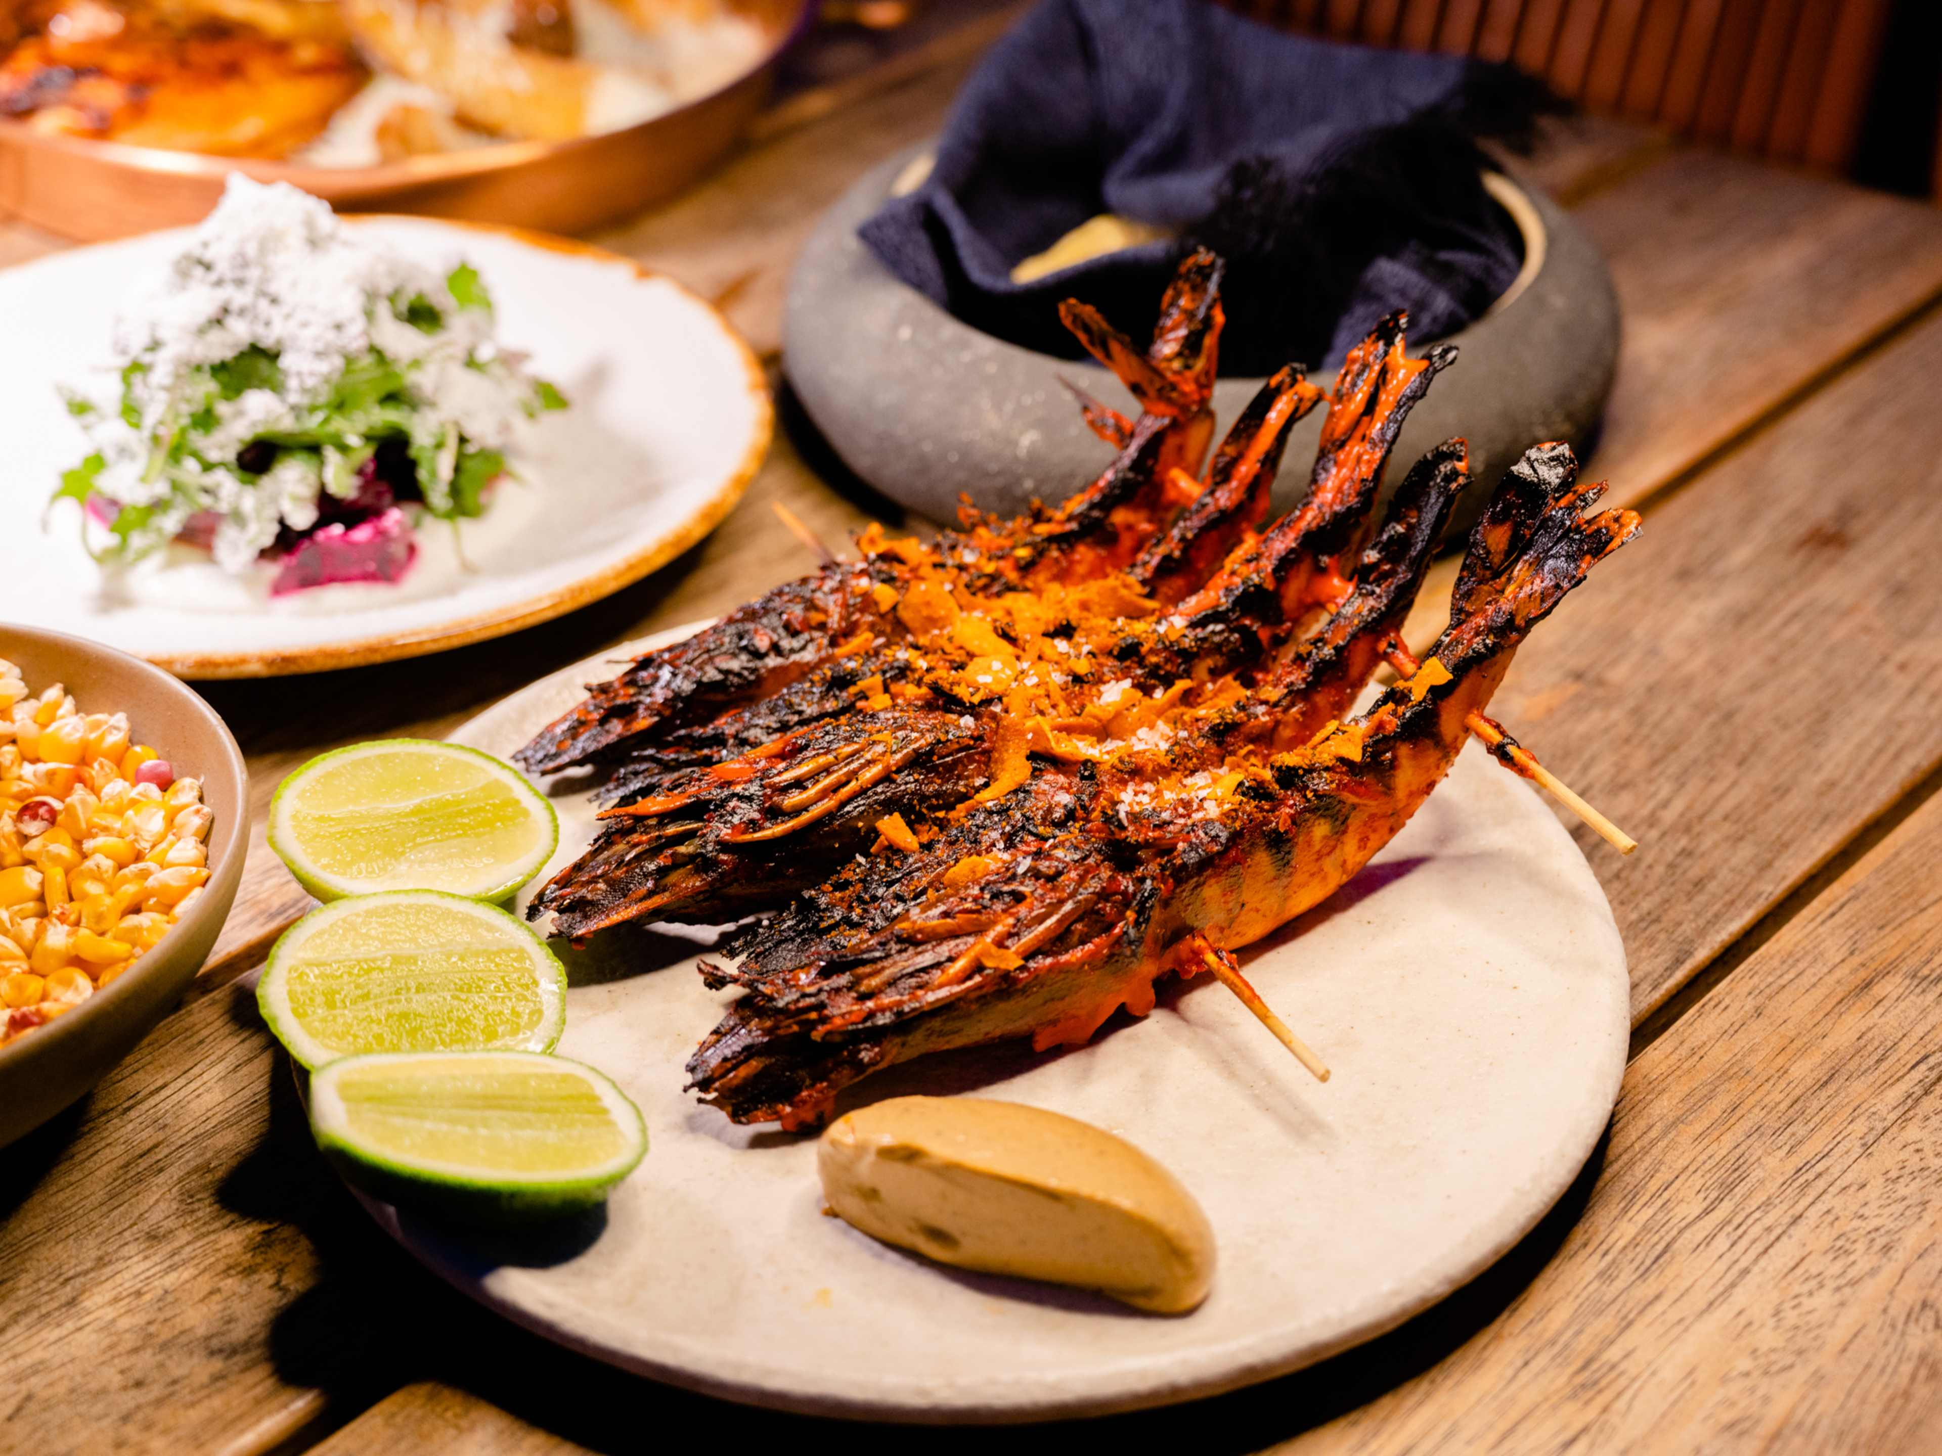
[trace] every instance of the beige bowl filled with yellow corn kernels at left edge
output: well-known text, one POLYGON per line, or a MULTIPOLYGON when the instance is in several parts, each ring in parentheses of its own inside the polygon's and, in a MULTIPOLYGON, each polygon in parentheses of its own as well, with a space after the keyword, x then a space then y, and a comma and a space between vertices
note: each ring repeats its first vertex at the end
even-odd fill
POLYGON ((249 775, 192 689, 0 623, 0 1147, 93 1087, 202 969, 249 775))

